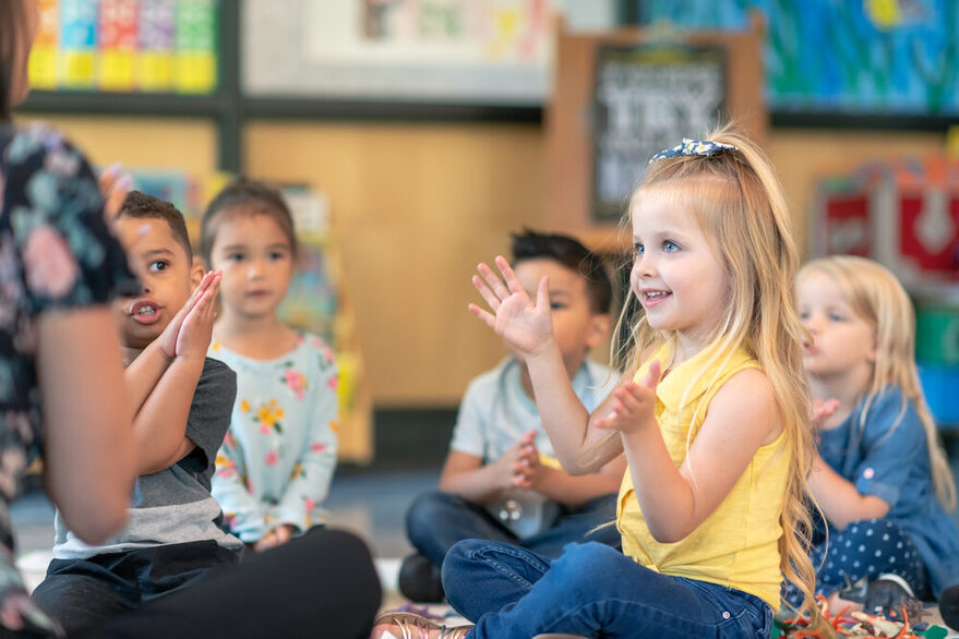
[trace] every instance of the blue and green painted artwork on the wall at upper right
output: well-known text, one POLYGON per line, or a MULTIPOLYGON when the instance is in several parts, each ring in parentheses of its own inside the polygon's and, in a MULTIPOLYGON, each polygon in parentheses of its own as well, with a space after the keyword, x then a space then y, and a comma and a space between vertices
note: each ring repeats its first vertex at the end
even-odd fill
POLYGON ((765 92, 775 116, 922 119, 959 116, 959 3, 955 0, 631 0, 647 26, 742 29, 767 25, 765 92))

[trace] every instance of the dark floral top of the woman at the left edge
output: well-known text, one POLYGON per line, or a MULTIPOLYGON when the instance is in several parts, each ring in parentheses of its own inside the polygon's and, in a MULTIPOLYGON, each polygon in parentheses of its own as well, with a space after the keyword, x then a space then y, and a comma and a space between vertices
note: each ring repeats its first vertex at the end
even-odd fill
POLYGON ((0 635, 56 637, 13 565, 7 507, 43 451, 35 323, 51 309, 106 304, 135 279, 77 149, 50 129, 9 123, 0 148, 0 635))

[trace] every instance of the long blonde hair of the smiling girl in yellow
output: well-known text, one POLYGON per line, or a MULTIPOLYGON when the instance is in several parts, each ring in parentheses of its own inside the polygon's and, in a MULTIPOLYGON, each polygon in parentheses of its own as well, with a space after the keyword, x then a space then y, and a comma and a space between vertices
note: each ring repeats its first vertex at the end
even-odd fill
MULTIPOLYGON (((744 349, 763 366, 772 387, 792 459, 779 517, 780 567, 806 595, 804 605, 811 606, 815 570, 808 556, 812 523, 806 479, 814 444, 802 363, 805 331, 792 296, 799 251, 786 197, 766 155, 730 126, 712 131, 707 140, 731 144, 736 150, 654 161, 634 191, 630 209, 651 189, 672 189, 676 202, 695 212, 704 234, 724 263, 730 281, 728 304, 707 348, 716 347, 715 357, 734 347, 744 349)), ((623 367, 634 369, 670 336, 647 324, 632 290, 628 298, 616 329, 618 335, 627 337, 613 346, 613 354, 623 367), (624 331, 631 308, 636 314, 624 331)))

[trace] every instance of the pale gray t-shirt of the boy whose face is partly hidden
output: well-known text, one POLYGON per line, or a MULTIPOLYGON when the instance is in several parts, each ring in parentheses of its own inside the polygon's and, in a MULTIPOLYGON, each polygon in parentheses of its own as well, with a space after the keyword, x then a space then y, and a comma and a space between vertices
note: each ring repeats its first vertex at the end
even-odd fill
MULTIPOLYGON (((523 390, 520 364, 506 358, 475 377, 463 396, 453 430, 451 450, 482 459, 483 465, 501 458, 523 435, 536 430, 540 456, 555 458, 536 402, 523 390)), ((573 377, 573 390, 592 412, 616 382, 602 364, 587 360, 573 377)), ((487 510, 520 539, 549 528, 559 515, 559 505, 540 493, 515 489, 487 505, 487 510)))

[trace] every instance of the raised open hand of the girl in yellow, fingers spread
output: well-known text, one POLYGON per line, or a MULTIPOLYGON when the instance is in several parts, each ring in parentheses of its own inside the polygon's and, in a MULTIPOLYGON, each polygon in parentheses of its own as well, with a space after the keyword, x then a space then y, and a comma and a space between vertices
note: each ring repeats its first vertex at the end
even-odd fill
POLYGON ((534 302, 506 260, 498 255, 495 263, 502 278, 486 264, 480 264, 479 275, 472 276, 472 285, 492 312, 476 304, 470 304, 469 310, 523 354, 537 354, 549 345, 553 334, 549 281, 546 277, 540 280, 534 302))

